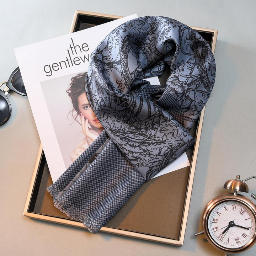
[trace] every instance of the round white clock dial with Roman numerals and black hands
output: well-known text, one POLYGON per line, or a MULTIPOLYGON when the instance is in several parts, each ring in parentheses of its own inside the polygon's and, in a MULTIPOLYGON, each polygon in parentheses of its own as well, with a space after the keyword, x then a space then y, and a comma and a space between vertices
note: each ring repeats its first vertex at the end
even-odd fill
POLYGON ((255 238, 255 217, 249 207, 237 201, 217 204, 209 213, 208 231, 224 249, 238 249, 255 238))

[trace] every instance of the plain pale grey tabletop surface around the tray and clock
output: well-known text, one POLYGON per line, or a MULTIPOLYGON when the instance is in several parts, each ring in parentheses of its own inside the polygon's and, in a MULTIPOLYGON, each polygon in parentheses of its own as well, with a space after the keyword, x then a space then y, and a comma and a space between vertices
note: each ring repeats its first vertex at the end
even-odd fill
MULTIPOLYGON (((217 77, 207 103, 182 247, 65 225, 22 215, 40 144, 26 97, 12 93, 10 121, 0 127, 0 255, 224 255, 200 231, 202 211, 225 193, 226 180, 256 175, 256 2, 202 0, 0 0, 0 81, 16 68, 14 48, 69 33, 75 10, 127 16, 168 16, 218 30, 217 77)), ((249 194, 256 193, 250 180, 249 194)), ((152 220, 154 221, 154 220, 152 220)), ((256 245, 242 255, 255 255, 256 245)))

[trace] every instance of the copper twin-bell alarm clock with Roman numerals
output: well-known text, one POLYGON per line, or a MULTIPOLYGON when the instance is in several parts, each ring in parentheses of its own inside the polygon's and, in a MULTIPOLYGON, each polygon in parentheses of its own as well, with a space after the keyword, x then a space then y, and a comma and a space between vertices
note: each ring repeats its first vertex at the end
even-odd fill
POLYGON ((237 175, 235 180, 228 180, 224 188, 234 193, 225 193, 213 198, 203 212, 203 231, 194 235, 204 234, 208 242, 226 255, 243 252, 256 242, 256 204, 252 199, 238 192, 248 193, 245 180, 237 175))

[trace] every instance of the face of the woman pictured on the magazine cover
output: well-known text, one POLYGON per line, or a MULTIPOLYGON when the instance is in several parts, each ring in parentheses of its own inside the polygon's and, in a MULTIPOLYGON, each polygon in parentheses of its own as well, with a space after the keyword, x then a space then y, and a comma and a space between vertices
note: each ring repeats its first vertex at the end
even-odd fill
POLYGON ((96 128, 101 128, 102 125, 98 121, 97 117, 95 116, 94 112, 92 111, 89 101, 87 99, 86 93, 82 93, 78 96, 78 107, 80 113, 88 119, 88 123, 96 128))

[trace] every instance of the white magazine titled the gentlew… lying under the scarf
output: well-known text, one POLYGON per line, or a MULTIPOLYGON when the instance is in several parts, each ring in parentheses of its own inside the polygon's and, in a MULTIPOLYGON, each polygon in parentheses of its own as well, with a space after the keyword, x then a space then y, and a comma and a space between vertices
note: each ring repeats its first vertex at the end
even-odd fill
MULTIPOLYGON (((136 17, 15 49, 53 182, 103 130, 84 92, 91 53, 115 27, 136 17)), ((157 77, 150 82, 159 84, 157 77)), ((158 175, 188 165, 183 154, 158 175)))

